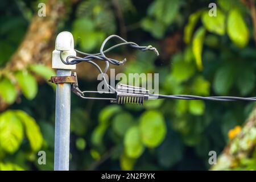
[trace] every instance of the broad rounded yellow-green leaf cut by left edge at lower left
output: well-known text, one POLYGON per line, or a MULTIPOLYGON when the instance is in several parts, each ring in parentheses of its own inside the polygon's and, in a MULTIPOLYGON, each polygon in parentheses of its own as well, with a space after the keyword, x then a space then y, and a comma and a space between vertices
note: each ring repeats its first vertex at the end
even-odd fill
POLYGON ((0 115, 0 148, 13 154, 23 139, 23 126, 16 114, 7 110, 0 115))

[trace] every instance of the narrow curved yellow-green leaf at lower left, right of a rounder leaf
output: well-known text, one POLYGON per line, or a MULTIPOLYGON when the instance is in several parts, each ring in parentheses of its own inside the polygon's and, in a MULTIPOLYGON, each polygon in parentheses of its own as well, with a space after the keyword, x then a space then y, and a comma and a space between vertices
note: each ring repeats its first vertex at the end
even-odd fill
POLYGON ((35 119, 22 110, 16 110, 15 114, 23 122, 24 129, 33 151, 39 151, 43 144, 43 136, 35 119))

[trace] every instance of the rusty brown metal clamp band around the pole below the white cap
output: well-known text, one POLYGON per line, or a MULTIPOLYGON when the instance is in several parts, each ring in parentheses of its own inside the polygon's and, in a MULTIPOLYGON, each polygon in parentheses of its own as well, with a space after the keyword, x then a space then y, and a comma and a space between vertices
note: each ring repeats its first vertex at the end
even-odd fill
POLYGON ((54 84, 71 83, 72 92, 79 97, 84 96, 84 93, 79 89, 76 72, 72 73, 71 76, 52 76, 48 81, 54 84))

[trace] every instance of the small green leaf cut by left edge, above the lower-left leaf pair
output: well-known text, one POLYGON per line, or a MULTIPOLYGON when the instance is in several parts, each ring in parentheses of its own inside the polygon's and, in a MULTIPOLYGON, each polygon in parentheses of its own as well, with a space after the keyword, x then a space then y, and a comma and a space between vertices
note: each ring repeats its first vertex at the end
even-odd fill
POLYGON ((8 104, 13 104, 16 100, 17 91, 13 83, 6 77, 3 77, 0 81, 0 96, 8 104))

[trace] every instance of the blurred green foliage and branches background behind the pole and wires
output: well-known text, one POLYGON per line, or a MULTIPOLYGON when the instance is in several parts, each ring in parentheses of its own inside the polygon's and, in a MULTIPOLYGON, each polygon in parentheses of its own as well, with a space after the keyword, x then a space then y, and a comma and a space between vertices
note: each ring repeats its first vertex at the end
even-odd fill
MULTIPOLYGON (((159 73, 163 94, 253 97, 256 11, 253 0, 67 0, 0 2, 0 169, 52 170, 56 35, 98 52, 111 34, 158 48, 122 47, 115 73, 159 73), (38 4, 46 4, 46 17, 38 4), (208 7, 216 3, 217 16, 208 7), (46 151, 46 165, 38 151, 46 151)), ((116 42, 109 43, 109 47, 116 42)), ((82 90, 97 89, 97 70, 77 65, 82 90)), ((71 170, 256 169, 254 102, 154 100, 144 106, 81 100, 72 94, 71 170), (249 117, 251 115, 251 117, 249 117), (247 119, 249 118, 249 119, 247 119), (209 151, 217 164, 210 166, 209 151)))

